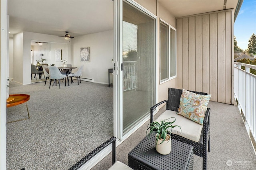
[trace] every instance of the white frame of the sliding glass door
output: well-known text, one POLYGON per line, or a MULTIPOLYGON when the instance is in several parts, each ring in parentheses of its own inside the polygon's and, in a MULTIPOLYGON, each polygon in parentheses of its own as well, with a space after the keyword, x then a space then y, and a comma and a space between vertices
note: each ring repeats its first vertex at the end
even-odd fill
POLYGON ((155 16, 150 11, 146 10, 140 4, 135 2, 134 0, 114 0, 114 136, 124 141, 127 139, 132 133, 134 133, 140 126, 142 126, 148 119, 150 119, 150 115, 142 119, 142 121, 133 127, 126 135, 123 135, 123 125, 122 125, 122 71, 121 63, 122 63, 122 19, 123 19, 123 1, 126 1, 139 10, 142 10, 149 16, 155 19, 155 101, 157 102, 157 16, 155 16))

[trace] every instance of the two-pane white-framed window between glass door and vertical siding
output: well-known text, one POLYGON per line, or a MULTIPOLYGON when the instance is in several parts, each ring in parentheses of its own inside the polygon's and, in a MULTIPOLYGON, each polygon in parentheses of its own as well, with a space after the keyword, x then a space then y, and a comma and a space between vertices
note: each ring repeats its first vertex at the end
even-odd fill
POLYGON ((160 83, 176 77, 176 29, 160 20, 160 83))

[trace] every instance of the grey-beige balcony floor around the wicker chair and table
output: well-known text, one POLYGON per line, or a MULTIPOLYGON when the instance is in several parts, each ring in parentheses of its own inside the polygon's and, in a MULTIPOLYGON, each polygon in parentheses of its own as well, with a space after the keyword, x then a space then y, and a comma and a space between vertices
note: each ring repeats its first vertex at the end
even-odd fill
MULTIPOLYGON (((210 102, 210 147, 207 155, 208 170, 255 170, 256 154, 246 131, 238 106, 210 102), (228 162, 232 162, 230 166, 228 162)), ((165 110, 162 107, 154 120, 165 110)), ((116 149, 116 160, 128 165, 128 153, 146 136, 147 121, 116 149)), ((100 161, 93 170, 108 169, 111 154, 100 161)), ((202 169, 202 158, 194 154, 194 170, 202 169)))

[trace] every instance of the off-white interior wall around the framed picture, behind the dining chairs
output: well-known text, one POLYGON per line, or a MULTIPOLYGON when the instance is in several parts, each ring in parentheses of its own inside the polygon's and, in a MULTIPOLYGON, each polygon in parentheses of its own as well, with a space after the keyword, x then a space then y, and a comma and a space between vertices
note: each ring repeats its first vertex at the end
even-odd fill
POLYGON ((72 40, 72 64, 78 68, 84 65, 81 78, 108 84, 108 68, 113 68, 114 31, 104 31, 77 36, 72 40), (80 62, 80 48, 90 47, 90 62, 80 62))

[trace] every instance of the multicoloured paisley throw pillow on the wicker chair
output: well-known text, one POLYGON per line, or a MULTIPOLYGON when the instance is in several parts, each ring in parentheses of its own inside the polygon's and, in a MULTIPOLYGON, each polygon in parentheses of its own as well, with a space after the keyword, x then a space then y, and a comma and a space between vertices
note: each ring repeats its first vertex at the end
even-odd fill
POLYGON ((211 96, 211 94, 196 94, 182 89, 177 114, 202 125, 211 96))

